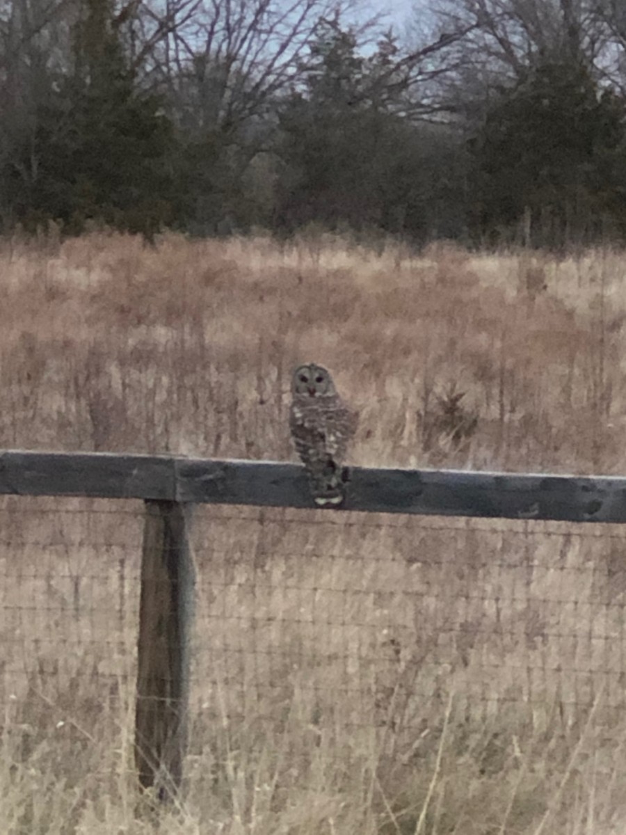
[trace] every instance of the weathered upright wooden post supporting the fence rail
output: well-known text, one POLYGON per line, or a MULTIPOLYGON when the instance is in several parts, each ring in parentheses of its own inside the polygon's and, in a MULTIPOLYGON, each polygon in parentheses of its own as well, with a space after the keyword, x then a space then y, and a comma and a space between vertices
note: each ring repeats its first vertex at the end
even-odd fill
POLYGON ((194 565, 191 505, 145 503, 135 708, 135 763, 144 788, 169 800, 183 776, 189 714, 194 565))

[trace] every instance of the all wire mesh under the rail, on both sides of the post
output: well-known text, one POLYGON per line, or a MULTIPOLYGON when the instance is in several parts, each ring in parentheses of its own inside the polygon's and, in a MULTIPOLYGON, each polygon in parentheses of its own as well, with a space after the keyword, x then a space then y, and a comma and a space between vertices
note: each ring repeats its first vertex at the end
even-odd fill
MULTIPOLYGON (((129 726, 143 526, 141 502, 0 502, 0 698, 24 745, 129 726)), ((214 506, 191 552, 192 759, 216 729, 288 725, 410 752, 451 694, 477 721, 626 709, 618 525, 214 506)))

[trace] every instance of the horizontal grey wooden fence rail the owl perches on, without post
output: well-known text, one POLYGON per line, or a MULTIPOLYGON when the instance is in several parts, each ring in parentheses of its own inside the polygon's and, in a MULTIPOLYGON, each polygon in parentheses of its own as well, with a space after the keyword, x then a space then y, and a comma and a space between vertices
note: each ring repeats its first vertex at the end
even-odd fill
MULTIPOLYGON (((0 453, 0 493, 315 507, 296 464, 106 453, 0 453)), ((626 522, 626 478, 355 467, 342 509, 626 522)))

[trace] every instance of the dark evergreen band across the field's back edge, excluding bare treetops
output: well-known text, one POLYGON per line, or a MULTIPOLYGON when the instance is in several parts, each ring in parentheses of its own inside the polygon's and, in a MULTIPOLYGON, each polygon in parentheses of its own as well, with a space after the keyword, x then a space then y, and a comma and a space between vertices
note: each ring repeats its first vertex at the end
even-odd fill
POLYGON ((437 112, 443 36, 411 54, 389 32, 372 50, 339 16, 321 18, 289 93, 279 82, 260 92, 264 60, 248 67, 236 50, 199 46, 186 63, 155 52, 139 73, 124 29, 138 8, 79 4, 64 62, 48 61, 44 39, 32 47, 28 101, 0 78, 3 228, 318 225, 417 242, 469 229, 547 246, 626 236, 623 103, 575 50, 529 57, 512 88, 492 91, 482 124, 458 107, 429 124, 419 114, 437 112), (169 74, 153 94, 157 65, 169 74))

